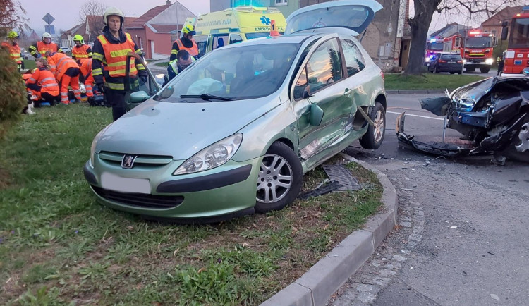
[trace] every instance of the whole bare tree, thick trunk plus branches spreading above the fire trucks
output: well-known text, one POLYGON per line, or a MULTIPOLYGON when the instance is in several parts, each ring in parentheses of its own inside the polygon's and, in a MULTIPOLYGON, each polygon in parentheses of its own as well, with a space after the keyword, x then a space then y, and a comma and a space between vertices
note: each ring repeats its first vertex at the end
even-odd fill
POLYGON ((408 21, 411 27, 411 45, 405 74, 417 75, 422 71, 425 42, 434 12, 454 13, 463 17, 492 16, 506 6, 523 4, 523 0, 414 0, 415 13, 408 21))

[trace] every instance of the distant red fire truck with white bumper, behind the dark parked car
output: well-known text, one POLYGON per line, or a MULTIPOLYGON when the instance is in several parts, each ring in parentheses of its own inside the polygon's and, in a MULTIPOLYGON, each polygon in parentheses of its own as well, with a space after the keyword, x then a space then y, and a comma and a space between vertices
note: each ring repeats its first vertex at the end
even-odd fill
POLYGON ((494 63, 492 54, 497 44, 498 39, 492 34, 468 30, 463 35, 446 37, 443 40, 443 51, 460 53, 467 72, 480 68, 481 73, 487 73, 494 63))

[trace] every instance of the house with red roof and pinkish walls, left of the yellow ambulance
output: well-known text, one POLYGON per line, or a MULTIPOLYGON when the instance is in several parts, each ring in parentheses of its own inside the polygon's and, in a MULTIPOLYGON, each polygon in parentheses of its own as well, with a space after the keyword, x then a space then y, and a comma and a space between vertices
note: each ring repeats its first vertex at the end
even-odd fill
POLYGON ((146 59, 164 59, 171 54, 174 40, 186 18, 197 18, 195 14, 176 1, 165 1, 162 6, 151 8, 138 17, 126 30, 142 49, 146 59))

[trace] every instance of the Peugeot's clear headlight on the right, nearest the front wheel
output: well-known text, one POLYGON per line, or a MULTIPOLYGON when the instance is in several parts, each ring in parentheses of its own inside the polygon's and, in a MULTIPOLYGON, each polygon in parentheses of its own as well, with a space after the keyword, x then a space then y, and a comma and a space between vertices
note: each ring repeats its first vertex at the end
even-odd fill
POLYGON ((243 134, 237 133, 226 137, 213 145, 202 149, 190 159, 184 161, 181 166, 173 172, 174 176, 180 174, 195 173, 213 169, 226 164, 233 157, 243 142, 243 134))

